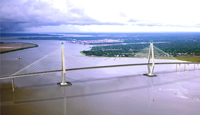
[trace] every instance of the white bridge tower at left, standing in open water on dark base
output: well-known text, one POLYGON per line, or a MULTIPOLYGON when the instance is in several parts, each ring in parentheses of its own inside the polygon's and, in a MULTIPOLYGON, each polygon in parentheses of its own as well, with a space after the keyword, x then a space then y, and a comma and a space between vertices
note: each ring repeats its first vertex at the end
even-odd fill
POLYGON ((72 84, 70 82, 66 82, 65 81, 65 73, 66 73, 66 70, 65 70, 65 55, 64 55, 64 43, 62 42, 61 43, 61 68, 62 68, 62 82, 59 82, 57 83, 58 86, 71 86, 72 84))

